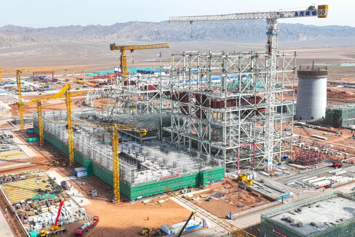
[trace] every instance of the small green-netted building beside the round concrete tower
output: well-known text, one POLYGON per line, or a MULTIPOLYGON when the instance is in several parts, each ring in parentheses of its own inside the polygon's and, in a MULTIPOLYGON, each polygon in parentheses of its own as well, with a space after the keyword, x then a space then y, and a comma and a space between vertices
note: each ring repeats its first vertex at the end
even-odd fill
POLYGON ((325 124, 332 127, 355 125, 355 104, 327 107, 325 124))

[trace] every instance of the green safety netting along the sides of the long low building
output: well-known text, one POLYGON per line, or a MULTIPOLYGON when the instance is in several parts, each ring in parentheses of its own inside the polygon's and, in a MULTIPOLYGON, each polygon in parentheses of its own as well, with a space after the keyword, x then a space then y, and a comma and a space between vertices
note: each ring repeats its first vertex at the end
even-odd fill
MULTIPOLYGON (((34 131, 39 133, 37 125, 33 125, 34 131)), ((67 143, 61 141, 48 131, 44 131, 44 139, 54 145, 63 154, 68 155, 67 143)), ((88 176, 94 175, 104 183, 113 186, 113 173, 99 163, 85 158, 78 151, 74 151, 74 160, 88 170, 88 176)), ((224 167, 214 167, 198 172, 188 174, 178 174, 173 177, 162 177, 161 179, 143 183, 131 184, 128 181, 120 178, 120 192, 129 201, 134 201, 140 198, 150 197, 165 193, 166 191, 182 189, 186 187, 205 186, 210 182, 221 180, 224 178, 224 167)))

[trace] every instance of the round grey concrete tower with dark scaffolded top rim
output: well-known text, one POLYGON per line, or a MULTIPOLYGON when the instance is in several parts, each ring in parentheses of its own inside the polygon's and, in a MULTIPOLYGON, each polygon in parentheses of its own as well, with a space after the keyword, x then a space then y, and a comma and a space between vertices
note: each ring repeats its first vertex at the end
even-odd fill
POLYGON ((301 65, 297 71, 297 105, 298 120, 317 120, 326 115, 327 76, 326 66, 301 65))

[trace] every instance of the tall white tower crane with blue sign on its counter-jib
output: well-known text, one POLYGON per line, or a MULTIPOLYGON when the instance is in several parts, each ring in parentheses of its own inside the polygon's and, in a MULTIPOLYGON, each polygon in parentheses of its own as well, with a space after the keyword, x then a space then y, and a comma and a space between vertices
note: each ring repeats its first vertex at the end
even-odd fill
POLYGON ((265 110, 265 143, 264 143, 264 168, 266 172, 272 171, 273 158, 273 137, 274 137, 274 107, 275 107, 275 79, 276 79, 276 60, 277 60, 277 41, 278 27, 277 20, 284 18, 311 17, 326 18, 328 15, 328 5, 310 6, 301 11, 272 11, 272 12, 251 12, 235 13, 226 15, 207 15, 207 16, 181 16, 169 17, 169 22, 188 21, 193 24, 194 21, 216 21, 216 20, 250 20, 265 19, 268 24, 267 44, 267 77, 266 77, 266 110, 265 110))

